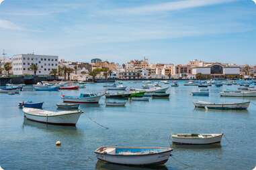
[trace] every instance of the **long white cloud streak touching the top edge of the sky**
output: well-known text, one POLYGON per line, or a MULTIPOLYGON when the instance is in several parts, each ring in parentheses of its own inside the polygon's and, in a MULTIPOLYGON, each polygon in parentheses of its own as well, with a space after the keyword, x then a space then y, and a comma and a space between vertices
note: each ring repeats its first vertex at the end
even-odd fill
MULTIPOLYGON (((221 3, 230 3, 237 0, 183 0, 167 3, 158 3, 155 5, 144 5, 140 7, 118 9, 119 12, 129 14, 147 14, 161 11, 176 11, 195 7, 204 7, 209 5, 218 5, 221 3)), ((256 1, 256 0, 253 0, 256 1)))

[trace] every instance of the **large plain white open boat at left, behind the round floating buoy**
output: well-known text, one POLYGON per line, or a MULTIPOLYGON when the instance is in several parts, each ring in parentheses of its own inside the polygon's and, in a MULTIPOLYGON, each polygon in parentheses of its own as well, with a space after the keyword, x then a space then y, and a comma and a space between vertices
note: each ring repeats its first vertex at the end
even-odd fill
POLYGON ((24 116, 29 120, 42 122, 46 124, 58 124, 75 126, 82 114, 81 110, 69 110, 61 112, 53 112, 41 110, 38 108, 23 108, 24 116))

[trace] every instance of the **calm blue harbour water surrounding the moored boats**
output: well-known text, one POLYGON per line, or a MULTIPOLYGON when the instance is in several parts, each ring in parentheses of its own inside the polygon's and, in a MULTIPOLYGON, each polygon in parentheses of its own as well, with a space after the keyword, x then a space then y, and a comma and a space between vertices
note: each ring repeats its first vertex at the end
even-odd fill
MULTIPOLYGON (((179 82, 181 84, 181 82, 179 82)), ((142 83, 124 82, 140 87, 142 83)), ((221 146, 173 146, 173 158, 155 169, 253 169, 256 165, 256 106, 248 110, 195 109, 193 101, 246 101, 256 98, 223 98, 219 92, 238 86, 210 87, 209 97, 191 96, 196 86, 170 88, 169 100, 128 102, 126 107, 99 104, 81 106, 76 127, 31 122, 17 107, 22 100, 44 101, 44 108, 56 110, 61 94, 78 95, 103 90, 103 84, 87 84, 80 91, 22 92, 0 94, 0 166, 4 169, 154 169, 124 167, 97 161, 93 151, 105 145, 169 147, 170 133, 224 133, 221 146), (104 129, 95 122, 108 127, 104 129), (62 142, 56 147, 55 142, 62 142)))

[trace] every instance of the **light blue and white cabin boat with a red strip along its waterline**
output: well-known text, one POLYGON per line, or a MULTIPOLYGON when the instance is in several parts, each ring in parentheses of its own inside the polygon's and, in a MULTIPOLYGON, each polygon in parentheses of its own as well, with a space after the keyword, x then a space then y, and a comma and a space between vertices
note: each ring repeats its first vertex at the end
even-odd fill
POLYGON ((102 94, 97 93, 85 93, 80 94, 80 96, 65 96, 62 95, 63 102, 73 102, 73 103, 98 103, 102 94))

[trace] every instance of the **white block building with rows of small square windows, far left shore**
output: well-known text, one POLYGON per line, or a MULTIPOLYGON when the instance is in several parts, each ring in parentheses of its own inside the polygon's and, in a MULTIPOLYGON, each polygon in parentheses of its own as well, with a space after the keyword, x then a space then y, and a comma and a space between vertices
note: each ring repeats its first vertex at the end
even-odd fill
POLYGON ((30 69, 32 64, 38 65, 37 75, 49 75, 52 69, 58 69, 58 56, 36 54, 17 54, 12 58, 13 74, 34 74, 30 69))

